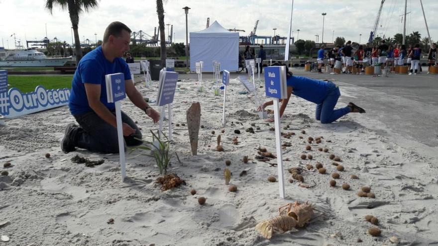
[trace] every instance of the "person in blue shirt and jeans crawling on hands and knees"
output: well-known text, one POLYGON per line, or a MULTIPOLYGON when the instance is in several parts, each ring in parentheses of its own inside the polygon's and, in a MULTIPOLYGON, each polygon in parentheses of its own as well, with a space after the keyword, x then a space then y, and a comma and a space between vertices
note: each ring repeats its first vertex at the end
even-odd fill
MULTIPOLYGON (((365 113, 363 108, 356 106, 352 102, 348 103, 346 107, 334 109, 340 96, 340 91, 339 87, 333 82, 293 76, 287 67, 286 71, 288 97, 280 99, 280 118, 286 109, 291 94, 316 103, 316 119, 320 120, 323 124, 331 123, 348 113, 365 113)), ((267 101, 263 103, 263 106, 259 106, 258 110, 261 111, 272 104, 273 101, 267 101)), ((266 121, 273 122, 274 119, 267 119, 266 121)))

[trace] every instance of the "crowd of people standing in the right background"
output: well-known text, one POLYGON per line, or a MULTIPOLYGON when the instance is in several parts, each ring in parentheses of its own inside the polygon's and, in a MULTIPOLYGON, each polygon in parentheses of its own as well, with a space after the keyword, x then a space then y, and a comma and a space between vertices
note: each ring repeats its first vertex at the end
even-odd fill
MULTIPOLYGON (((372 66, 377 64, 385 66, 385 69, 395 66, 404 66, 405 61, 410 66, 409 75, 416 75, 421 72, 420 59, 422 56, 422 49, 419 44, 409 45, 387 45, 385 40, 382 40, 380 45, 373 47, 365 45, 357 45, 353 48, 351 41, 347 41, 345 45, 336 46, 326 53, 326 45, 323 44, 318 51, 318 72, 322 72, 324 60, 329 60, 329 68, 333 70, 335 62, 342 63, 345 70, 344 74, 351 74, 350 67, 356 67, 356 74, 361 75, 364 72, 364 64, 368 63, 372 66)), ((437 65, 437 45, 434 43, 429 49, 428 65, 437 65)), ((429 71, 429 70, 428 70, 429 71)), ((429 73, 429 72, 428 72, 429 73)), ((331 74, 334 74, 331 71, 331 74)))

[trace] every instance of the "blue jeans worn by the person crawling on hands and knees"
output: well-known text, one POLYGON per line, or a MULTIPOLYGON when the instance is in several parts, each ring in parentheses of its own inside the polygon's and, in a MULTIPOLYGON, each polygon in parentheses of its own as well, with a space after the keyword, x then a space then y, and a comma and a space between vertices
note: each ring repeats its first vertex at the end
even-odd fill
POLYGON ((324 101, 317 105, 316 119, 321 123, 328 124, 350 112, 349 107, 334 109, 340 96, 339 88, 332 82, 329 83, 329 93, 324 101))

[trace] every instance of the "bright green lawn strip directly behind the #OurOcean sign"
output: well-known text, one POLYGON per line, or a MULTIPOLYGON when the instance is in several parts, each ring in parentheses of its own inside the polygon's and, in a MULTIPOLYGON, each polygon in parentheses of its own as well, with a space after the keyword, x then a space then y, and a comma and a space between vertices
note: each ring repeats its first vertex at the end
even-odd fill
POLYGON ((73 75, 66 76, 7 76, 9 88, 16 87, 21 92, 31 92, 38 85, 44 86, 46 89, 71 88, 73 75))

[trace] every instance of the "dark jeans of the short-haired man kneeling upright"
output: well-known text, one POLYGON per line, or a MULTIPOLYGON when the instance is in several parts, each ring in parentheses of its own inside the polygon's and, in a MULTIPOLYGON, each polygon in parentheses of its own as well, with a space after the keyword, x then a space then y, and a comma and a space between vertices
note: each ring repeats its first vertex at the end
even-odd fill
MULTIPOLYGON (((114 110, 111 110, 111 113, 115 115, 114 110)), ((76 147, 105 154, 118 153, 117 128, 108 124, 94 111, 74 115, 74 117, 80 126, 75 129, 72 134, 76 147)), ((135 129, 135 134, 131 134, 127 137, 123 136, 124 149, 126 150, 126 146, 141 144, 141 141, 135 139, 142 138, 140 130, 134 121, 123 111, 121 112, 121 121, 128 124, 132 129, 135 129)))

